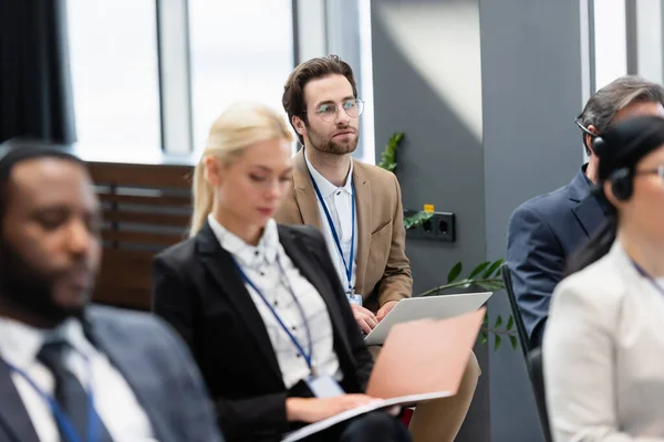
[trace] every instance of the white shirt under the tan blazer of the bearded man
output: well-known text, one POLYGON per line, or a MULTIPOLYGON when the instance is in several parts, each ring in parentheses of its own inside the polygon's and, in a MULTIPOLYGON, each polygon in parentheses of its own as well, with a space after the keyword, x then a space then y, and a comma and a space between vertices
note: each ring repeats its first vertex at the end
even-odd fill
POLYGON ((330 227, 330 222, 328 221, 328 217, 325 215, 325 209, 323 204, 318 199, 317 201, 319 206, 319 213, 321 218, 321 227, 323 235, 325 236, 325 242, 328 243, 328 251, 332 256, 332 263, 334 264, 334 269, 336 269, 336 273, 339 274, 339 278, 341 280, 341 284, 344 291, 349 290, 349 280, 346 275, 346 267, 344 264, 347 264, 351 259, 351 248, 353 248, 353 263, 352 265, 352 274, 350 285, 353 288, 355 287, 355 273, 357 269, 357 209, 355 207, 355 239, 352 240, 353 233, 353 160, 351 159, 351 168, 349 170, 349 176, 346 178, 345 185, 343 187, 336 187, 311 165, 309 158, 307 157, 307 149, 304 149, 304 160, 307 161, 307 168, 311 172, 315 185, 318 186, 323 200, 325 201, 325 206, 328 207, 328 211, 330 212, 330 217, 332 218, 332 222, 334 223, 334 229, 336 230, 336 235, 339 236, 339 241, 341 243, 341 250, 343 252, 343 259, 339 254, 339 249, 336 248, 336 242, 334 241, 334 236, 332 235, 332 229, 330 227))

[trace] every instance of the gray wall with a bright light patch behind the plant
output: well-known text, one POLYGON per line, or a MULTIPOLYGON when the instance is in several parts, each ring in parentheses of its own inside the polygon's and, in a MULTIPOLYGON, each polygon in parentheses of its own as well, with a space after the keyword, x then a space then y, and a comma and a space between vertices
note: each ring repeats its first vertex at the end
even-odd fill
MULTIPOLYGON (((404 206, 457 217, 456 243, 408 241, 415 293, 457 261, 468 270, 505 256, 512 210, 580 167, 580 28, 571 0, 372 2, 376 157, 404 131, 404 206)), ((504 293, 489 312, 509 313, 504 293)), ((457 440, 541 440, 521 352, 476 352, 484 372, 457 440)))

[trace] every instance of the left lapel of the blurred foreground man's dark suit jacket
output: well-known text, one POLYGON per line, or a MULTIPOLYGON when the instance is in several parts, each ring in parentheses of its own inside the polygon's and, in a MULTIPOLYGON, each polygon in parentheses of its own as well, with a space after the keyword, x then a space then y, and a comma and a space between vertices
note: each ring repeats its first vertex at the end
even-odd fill
POLYGON ((11 380, 9 366, 2 359, 0 359, 0 427, 13 435, 13 441, 39 442, 23 400, 11 380))

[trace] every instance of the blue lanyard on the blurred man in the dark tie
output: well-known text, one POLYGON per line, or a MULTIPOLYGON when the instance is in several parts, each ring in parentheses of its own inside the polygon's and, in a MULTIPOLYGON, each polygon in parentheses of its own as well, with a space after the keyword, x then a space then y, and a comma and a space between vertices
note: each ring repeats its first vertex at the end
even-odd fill
MULTIPOLYGON (((91 375, 92 370, 90 367, 90 361, 87 360, 86 357, 84 357, 84 359, 85 359, 85 366, 87 367, 87 372, 89 372, 89 375, 91 375)), ((34 383, 34 380, 32 380, 32 378, 30 376, 28 376, 28 373, 25 371, 21 370, 20 368, 15 367, 12 364, 9 364, 7 361, 6 361, 6 364, 9 366, 10 370, 19 373, 23 379, 25 379, 28 381, 28 383, 34 389, 34 391, 37 391, 39 393, 39 396, 41 396, 42 399, 49 404, 49 407, 51 408, 51 412, 53 413, 53 419, 55 419, 55 423, 58 424, 58 428, 60 428, 60 430, 62 431, 66 441, 68 442, 83 442, 83 440, 76 433, 76 430, 74 429, 74 425, 72 424, 72 421, 66 415, 66 413, 64 412, 62 407, 60 407, 60 404, 58 403, 55 398, 53 398, 50 394, 46 394, 46 392, 44 390, 39 388, 37 386, 37 383, 34 383)), ((89 379, 92 379, 92 377, 89 376, 89 379)), ((91 382, 91 386, 87 389, 87 439, 86 439, 87 442, 93 442, 93 441, 98 440, 98 434, 100 434, 98 423, 100 423, 100 418, 94 410, 94 397, 92 393, 92 382, 91 382)))

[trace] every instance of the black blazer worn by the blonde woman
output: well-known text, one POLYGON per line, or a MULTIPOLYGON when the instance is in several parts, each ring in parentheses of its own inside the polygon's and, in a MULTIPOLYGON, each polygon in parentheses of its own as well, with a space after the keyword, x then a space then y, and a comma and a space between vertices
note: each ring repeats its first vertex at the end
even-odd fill
MULTIPOLYGON (((373 360, 323 235, 308 225, 278 229, 286 253, 328 307, 341 387, 363 392, 373 360)), ((263 320, 209 224, 158 254, 153 270, 153 309, 189 345, 227 440, 279 440, 293 428, 286 417, 287 397, 312 394, 304 382, 287 390, 263 320)))

